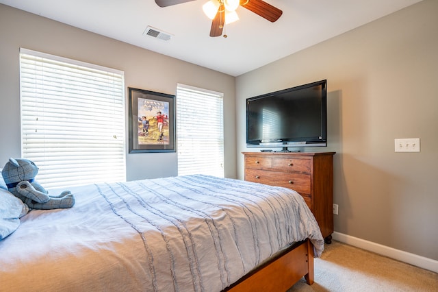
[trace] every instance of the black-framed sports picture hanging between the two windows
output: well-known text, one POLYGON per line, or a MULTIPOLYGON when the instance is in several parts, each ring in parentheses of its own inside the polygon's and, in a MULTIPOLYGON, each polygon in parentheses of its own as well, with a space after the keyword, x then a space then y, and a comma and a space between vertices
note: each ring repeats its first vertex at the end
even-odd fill
POLYGON ((128 89, 129 153, 175 152, 175 95, 128 89))

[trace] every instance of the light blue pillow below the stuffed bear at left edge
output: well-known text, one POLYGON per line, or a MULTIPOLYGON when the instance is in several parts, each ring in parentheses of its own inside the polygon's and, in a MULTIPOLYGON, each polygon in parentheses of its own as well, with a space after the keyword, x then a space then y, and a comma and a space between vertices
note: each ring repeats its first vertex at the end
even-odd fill
POLYGON ((29 212, 26 204, 0 188, 0 241, 20 226, 20 218, 29 212))

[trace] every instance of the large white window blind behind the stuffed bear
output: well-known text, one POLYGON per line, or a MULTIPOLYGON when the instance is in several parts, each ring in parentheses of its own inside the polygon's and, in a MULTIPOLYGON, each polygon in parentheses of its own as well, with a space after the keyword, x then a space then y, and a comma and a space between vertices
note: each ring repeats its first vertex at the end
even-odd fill
POLYGON ((125 181, 124 73, 21 49, 21 149, 45 188, 125 181))

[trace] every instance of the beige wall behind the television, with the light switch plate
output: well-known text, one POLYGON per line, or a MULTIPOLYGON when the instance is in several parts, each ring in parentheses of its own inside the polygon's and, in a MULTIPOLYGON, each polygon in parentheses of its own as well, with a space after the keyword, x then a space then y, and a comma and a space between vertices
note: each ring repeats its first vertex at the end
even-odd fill
POLYGON ((425 0, 237 77, 238 177, 245 99, 327 79, 329 147, 313 151, 337 152, 335 231, 438 260, 437 12, 425 0))

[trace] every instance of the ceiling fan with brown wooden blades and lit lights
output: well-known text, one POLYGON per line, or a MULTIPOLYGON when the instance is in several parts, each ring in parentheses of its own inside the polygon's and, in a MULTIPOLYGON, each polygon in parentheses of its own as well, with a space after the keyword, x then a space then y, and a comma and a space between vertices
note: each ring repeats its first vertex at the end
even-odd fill
MULTIPOLYGON (((190 1, 194 0, 155 0, 155 3, 157 3, 159 7, 166 7, 190 1)), ((279 8, 275 8, 274 6, 262 0, 210 0, 206 4, 209 3, 212 3, 213 5, 215 5, 215 7, 217 7, 217 12, 213 12, 213 16, 211 17, 213 21, 211 22, 210 36, 213 37, 222 36, 222 30, 224 29, 224 25, 227 23, 225 17, 229 17, 229 15, 231 15, 227 13, 228 10, 230 10, 229 5, 234 6, 233 8, 231 8, 234 14, 234 10, 240 5, 272 23, 277 21, 277 19, 280 18, 281 14, 283 14, 283 11, 279 10, 279 8)), ((237 14, 235 14, 235 17, 237 17, 237 14)), ((227 35, 224 34, 224 37, 226 38, 227 35)))

